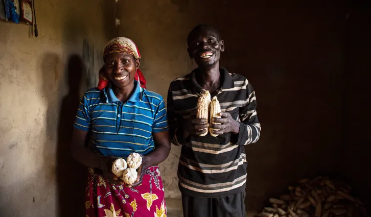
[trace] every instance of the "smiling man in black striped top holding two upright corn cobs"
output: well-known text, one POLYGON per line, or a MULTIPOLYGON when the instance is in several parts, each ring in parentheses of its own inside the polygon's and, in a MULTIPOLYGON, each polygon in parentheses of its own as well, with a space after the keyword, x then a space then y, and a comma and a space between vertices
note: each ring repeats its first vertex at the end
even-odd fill
POLYGON ((255 92, 246 78, 219 67, 224 41, 217 30, 198 25, 187 42, 198 68, 171 82, 168 92, 171 140, 182 146, 178 178, 184 217, 246 216, 244 145, 256 142, 261 129, 255 92), (213 120, 219 125, 195 116, 204 90, 220 102, 221 118, 213 120), (218 136, 199 136, 208 127, 218 136))

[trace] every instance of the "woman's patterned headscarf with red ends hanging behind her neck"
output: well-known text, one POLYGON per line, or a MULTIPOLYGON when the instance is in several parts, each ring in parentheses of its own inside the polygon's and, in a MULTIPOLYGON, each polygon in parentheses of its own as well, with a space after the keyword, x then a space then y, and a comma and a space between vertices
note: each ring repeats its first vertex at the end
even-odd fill
MULTIPOLYGON (((135 43, 129 39, 124 37, 113 38, 112 40, 108 41, 108 43, 104 46, 103 49, 103 58, 106 55, 111 53, 125 53, 132 55, 135 59, 141 59, 141 53, 138 50, 138 47, 135 43)), ((104 66, 99 70, 99 83, 98 89, 103 90, 108 83, 109 80, 104 75, 104 66)), ((141 87, 146 88, 146 79, 144 78, 142 71, 138 68, 136 69, 135 73, 135 80, 138 81, 141 87)))

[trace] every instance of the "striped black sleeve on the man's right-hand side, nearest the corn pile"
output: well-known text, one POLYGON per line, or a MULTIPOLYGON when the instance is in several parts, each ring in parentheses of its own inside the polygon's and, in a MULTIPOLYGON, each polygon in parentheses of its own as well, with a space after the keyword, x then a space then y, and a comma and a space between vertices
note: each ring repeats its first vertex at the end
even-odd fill
POLYGON ((235 144, 246 145, 257 142, 260 137, 260 123, 257 115, 257 99, 251 84, 246 80, 246 103, 240 108, 240 131, 232 140, 235 144))

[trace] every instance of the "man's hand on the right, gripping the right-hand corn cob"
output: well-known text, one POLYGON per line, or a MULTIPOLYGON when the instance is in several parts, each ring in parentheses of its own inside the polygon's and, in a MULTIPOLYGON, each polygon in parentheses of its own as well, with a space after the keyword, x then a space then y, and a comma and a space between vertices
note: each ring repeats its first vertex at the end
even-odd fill
POLYGON ((233 119, 232 116, 228 112, 220 112, 219 117, 214 117, 212 118, 212 123, 219 123, 219 124, 212 124, 211 123, 211 128, 216 129, 212 130, 211 132, 214 134, 221 135, 223 133, 239 133, 240 132, 240 123, 233 119))

